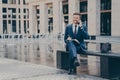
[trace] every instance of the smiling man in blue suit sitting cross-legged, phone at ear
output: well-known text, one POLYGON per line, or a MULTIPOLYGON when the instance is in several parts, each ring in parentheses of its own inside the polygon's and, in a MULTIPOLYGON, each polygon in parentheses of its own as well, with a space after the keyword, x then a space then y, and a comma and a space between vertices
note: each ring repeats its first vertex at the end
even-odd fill
POLYGON ((86 50, 84 39, 88 39, 89 35, 84 28, 85 26, 82 26, 80 14, 74 13, 73 23, 66 27, 64 36, 64 41, 70 54, 68 74, 76 73, 76 67, 79 66, 77 53, 84 52, 86 50))

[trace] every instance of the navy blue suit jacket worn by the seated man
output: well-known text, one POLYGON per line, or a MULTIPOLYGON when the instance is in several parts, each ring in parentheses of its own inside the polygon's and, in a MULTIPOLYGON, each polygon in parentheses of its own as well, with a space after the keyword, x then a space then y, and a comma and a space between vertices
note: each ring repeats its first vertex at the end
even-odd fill
POLYGON ((86 45, 85 45, 84 39, 88 39, 89 35, 85 29, 85 26, 82 26, 83 27, 82 29, 80 27, 78 27, 76 36, 73 33, 72 26, 73 26, 73 24, 66 26, 65 36, 64 36, 65 43, 67 43, 67 38, 68 38, 68 36, 70 36, 72 39, 77 39, 80 42, 80 44, 77 46, 80 47, 80 49, 82 51, 86 50, 86 45))

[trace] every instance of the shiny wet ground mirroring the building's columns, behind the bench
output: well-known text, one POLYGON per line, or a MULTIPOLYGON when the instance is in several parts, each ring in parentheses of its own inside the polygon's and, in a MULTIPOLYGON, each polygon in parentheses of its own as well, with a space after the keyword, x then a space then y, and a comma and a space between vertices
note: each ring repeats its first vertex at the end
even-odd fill
MULTIPOLYGON (((2 44, 0 46, 0 56, 19 60, 19 61, 24 61, 24 62, 31 62, 35 64, 50 66, 50 67, 56 67, 56 50, 64 50, 65 47, 62 41, 61 42, 57 42, 57 41, 50 42, 50 41, 51 40, 42 42, 37 40, 31 43, 24 42, 24 43, 17 43, 17 44, 16 43, 2 44)), ((95 71, 97 72, 97 73, 94 73, 95 76, 99 76, 99 62, 97 61, 95 62, 97 65, 91 64, 92 68, 89 69, 87 56, 82 56, 79 58, 80 58, 79 60, 80 60, 81 66, 77 68, 78 74, 92 75, 91 73, 94 73, 95 71), (97 69, 96 69, 96 66, 97 66, 97 69)), ((53 77, 54 76, 55 75, 53 75, 53 77)), ((84 76, 82 75, 82 77, 84 76)), ((77 80, 77 78, 75 80, 77 80)))

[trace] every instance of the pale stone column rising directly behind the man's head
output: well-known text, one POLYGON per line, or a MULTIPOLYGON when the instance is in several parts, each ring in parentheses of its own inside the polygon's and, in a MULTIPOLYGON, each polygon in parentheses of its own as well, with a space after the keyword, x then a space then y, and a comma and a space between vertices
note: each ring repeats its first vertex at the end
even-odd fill
POLYGON ((79 0, 69 0, 69 23, 73 21, 73 13, 79 12, 79 0))

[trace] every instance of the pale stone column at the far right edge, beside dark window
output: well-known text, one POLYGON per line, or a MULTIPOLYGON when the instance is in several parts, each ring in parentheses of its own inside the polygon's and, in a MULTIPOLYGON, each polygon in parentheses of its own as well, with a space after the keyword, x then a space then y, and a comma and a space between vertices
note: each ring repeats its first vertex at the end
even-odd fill
POLYGON ((111 0, 112 2, 112 17, 111 31, 112 36, 120 36, 120 0, 111 0))

